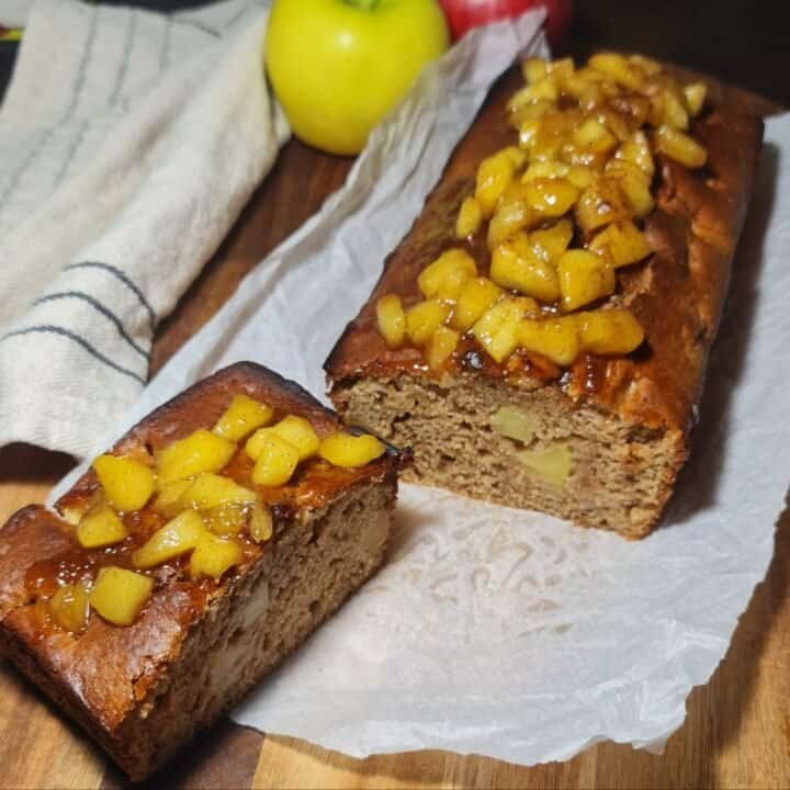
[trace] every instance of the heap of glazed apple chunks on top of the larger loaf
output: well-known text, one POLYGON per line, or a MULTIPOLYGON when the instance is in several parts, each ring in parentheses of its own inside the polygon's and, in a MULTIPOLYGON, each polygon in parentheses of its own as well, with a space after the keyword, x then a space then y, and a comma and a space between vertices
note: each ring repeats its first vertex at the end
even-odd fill
POLYGON ((578 69, 531 58, 522 74, 508 104, 516 139, 479 162, 458 246, 417 276, 421 301, 376 304, 387 347, 417 347, 437 373, 467 350, 464 338, 500 364, 521 352, 566 368, 639 348, 644 332, 618 302, 618 270, 653 252, 644 222, 656 158, 707 161, 691 131, 702 83, 681 87, 658 64, 616 53, 578 69))

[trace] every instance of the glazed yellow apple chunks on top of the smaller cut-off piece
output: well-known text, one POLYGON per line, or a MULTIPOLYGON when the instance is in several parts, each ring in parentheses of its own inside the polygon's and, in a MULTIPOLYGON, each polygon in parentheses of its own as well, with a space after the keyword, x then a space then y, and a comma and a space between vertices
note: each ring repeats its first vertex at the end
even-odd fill
POLYGON ((81 549, 109 552, 111 561, 100 563, 92 578, 61 584, 38 599, 41 617, 75 634, 86 629, 91 612, 127 627, 144 610, 154 574, 165 565, 192 580, 219 584, 245 562, 245 543, 273 537, 267 500, 276 500, 276 494, 264 496, 267 488, 287 486, 301 465, 356 469, 385 452, 373 436, 319 437, 304 417, 274 417, 269 404, 237 394, 213 427, 198 428, 153 455, 95 459, 98 489, 84 512, 69 515, 81 549), (249 484, 223 474, 238 454, 252 463, 249 484), (160 526, 140 541, 129 524, 143 512, 160 526))

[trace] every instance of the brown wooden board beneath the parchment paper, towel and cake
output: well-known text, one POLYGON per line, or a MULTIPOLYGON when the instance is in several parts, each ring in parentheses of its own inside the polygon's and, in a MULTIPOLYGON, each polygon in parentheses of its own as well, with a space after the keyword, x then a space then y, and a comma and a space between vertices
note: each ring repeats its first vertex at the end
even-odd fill
MULTIPOLYGON (((753 94, 747 99, 758 112, 778 109, 753 94)), ((269 250, 342 184, 351 163, 297 142, 285 146, 225 244, 159 327, 154 372, 225 303, 269 250)), ((16 508, 43 501, 70 467, 65 455, 25 445, 0 450, 0 523, 16 508)), ((90 741, 12 667, 0 663, 0 788, 126 785, 90 741)), ((742 618, 725 661, 712 680, 691 695, 688 719, 662 756, 607 743, 567 763, 533 768, 447 752, 358 760, 224 721, 149 785, 217 790, 790 787, 790 516, 786 511, 778 523, 770 571, 742 618)))

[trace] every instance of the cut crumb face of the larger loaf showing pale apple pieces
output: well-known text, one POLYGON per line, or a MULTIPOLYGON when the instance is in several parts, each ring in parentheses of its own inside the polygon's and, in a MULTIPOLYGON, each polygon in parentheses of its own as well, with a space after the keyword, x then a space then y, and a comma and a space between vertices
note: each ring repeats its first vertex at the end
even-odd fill
POLYGON ((407 482, 625 538, 655 527, 686 456, 680 431, 630 425, 555 383, 520 390, 398 374, 340 382, 331 396, 350 424, 413 449, 407 482), (516 431, 503 416, 515 416, 516 431), (507 436, 514 432, 519 438, 507 436))

